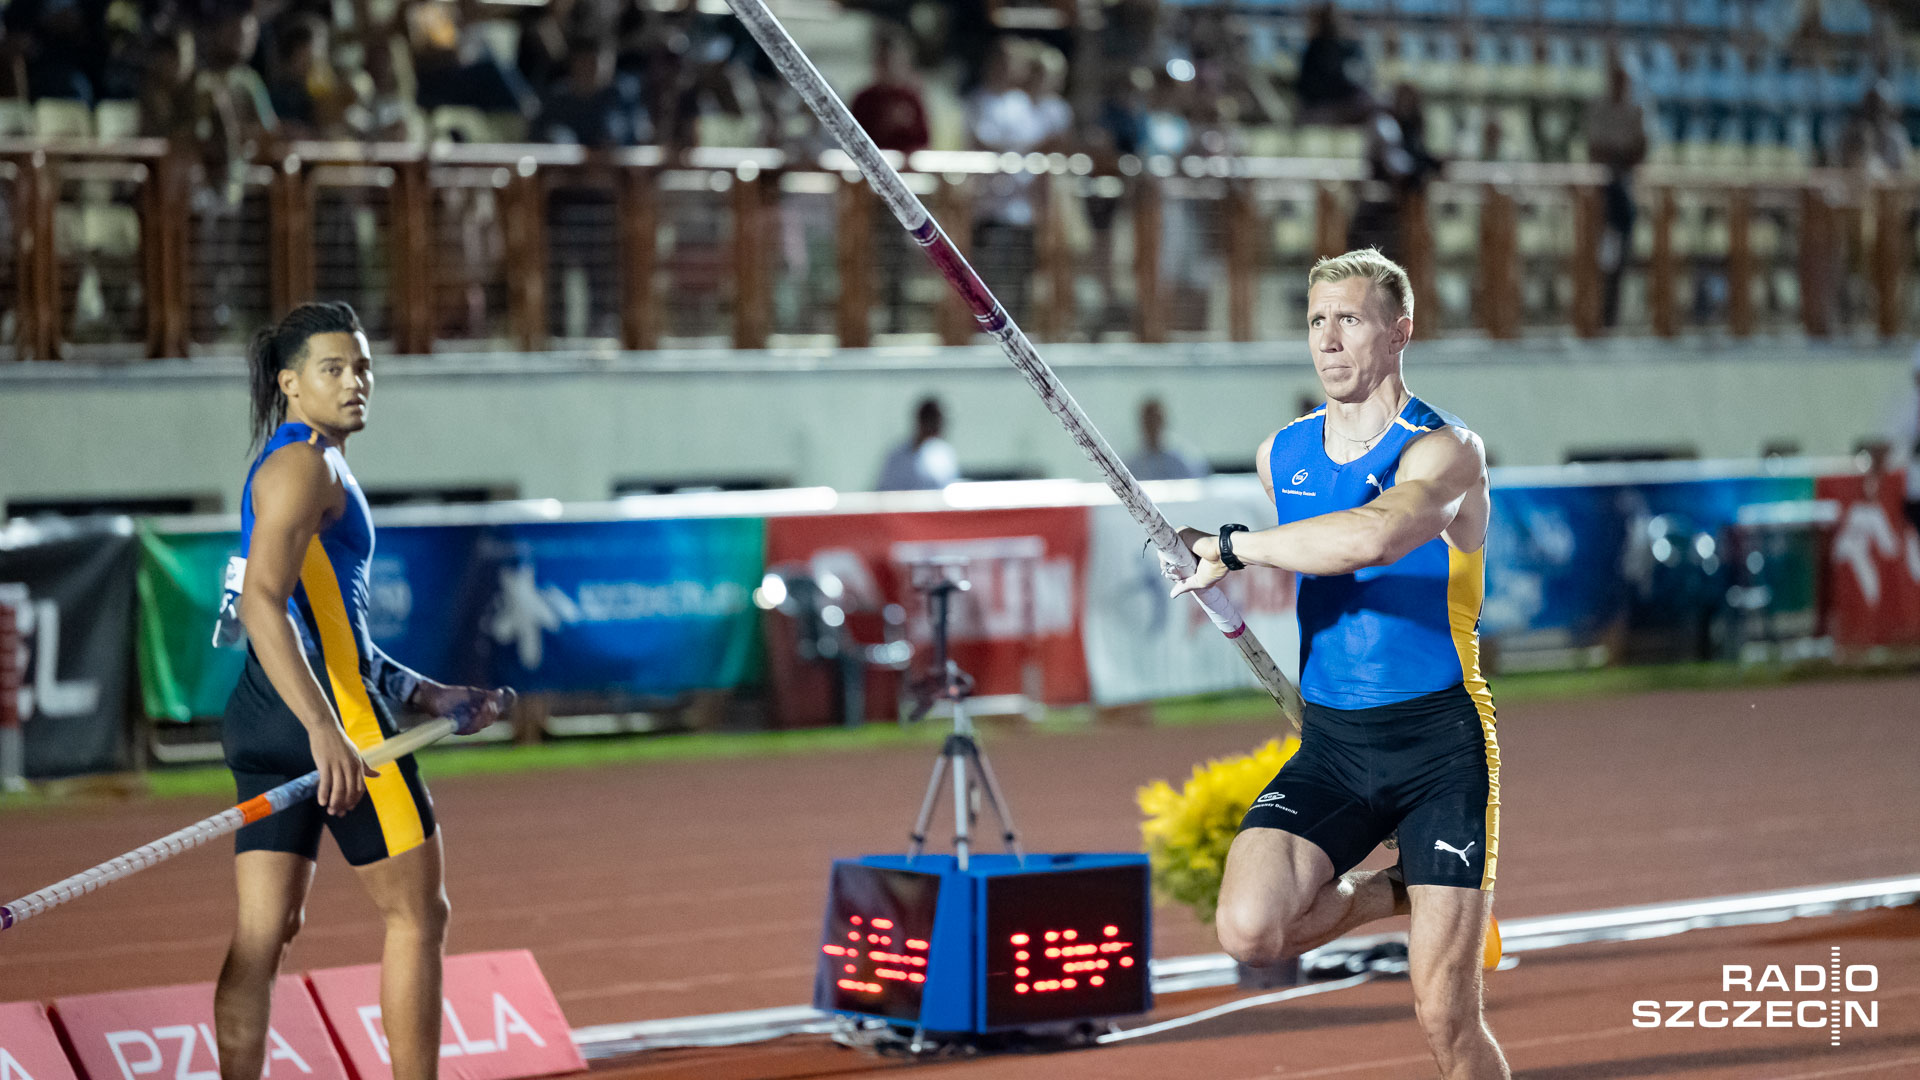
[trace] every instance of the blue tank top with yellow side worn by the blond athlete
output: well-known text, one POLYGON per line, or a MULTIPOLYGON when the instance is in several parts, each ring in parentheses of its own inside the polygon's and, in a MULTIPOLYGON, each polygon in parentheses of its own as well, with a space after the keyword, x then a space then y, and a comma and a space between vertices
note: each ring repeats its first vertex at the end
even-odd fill
MULTIPOLYGON (((1465 427, 1411 398, 1379 444, 1336 465, 1325 423, 1321 405, 1273 436, 1267 463, 1281 525, 1365 505, 1394 486, 1407 444, 1465 427)), ((1492 717, 1480 676, 1484 550, 1455 552, 1436 536, 1384 567, 1300 575, 1300 694, 1331 709, 1367 709, 1465 684, 1492 717)))

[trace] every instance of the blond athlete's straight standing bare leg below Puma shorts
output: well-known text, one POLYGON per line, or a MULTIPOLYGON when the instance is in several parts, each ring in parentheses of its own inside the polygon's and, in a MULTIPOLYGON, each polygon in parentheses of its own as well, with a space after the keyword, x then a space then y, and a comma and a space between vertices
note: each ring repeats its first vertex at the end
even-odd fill
POLYGON ((1486 1026, 1480 947, 1494 894, 1455 886, 1407 886, 1413 930, 1407 965, 1413 1013, 1444 1080, 1507 1080, 1507 1059, 1486 1026))

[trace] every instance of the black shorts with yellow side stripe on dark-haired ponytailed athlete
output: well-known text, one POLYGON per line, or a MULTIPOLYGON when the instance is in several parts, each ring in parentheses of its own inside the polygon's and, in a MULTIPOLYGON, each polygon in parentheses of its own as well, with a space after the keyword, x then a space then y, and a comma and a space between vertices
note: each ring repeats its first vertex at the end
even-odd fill
MULTIPOLYGON (((317 657, 309 657, 328 700, 334 692, 317 657)), ((399 728, 386 701, 367 690, 380 734, 392 738, 399 728)), ((338 705, 336 705, 338 707, 338 705)), ((361 744, 363 740, 355 740, 361 744)), ((367 738, 361 749, 374 740, 367 738)), ((246 669, 227 700, 221 721, 221 748, 232 769, 236 801, 252 799, 269 788, 313 773, 313 751, 307 728, 286 707, 267 680, 253 650, 246 653, 246 669)), ((334 834, 334 844, 348 863, 365 867, 390 855, 411 851, 434 834, 434 799, 420 782, 413 755, 380 767, 380 776, 367 778, 367 796, 342 817, 321 809, 319 799, 305 799, 284 811, 255 821, 234 834, 234 851, 288 851, 313 859, 321 851, 321 828, 334 834)))

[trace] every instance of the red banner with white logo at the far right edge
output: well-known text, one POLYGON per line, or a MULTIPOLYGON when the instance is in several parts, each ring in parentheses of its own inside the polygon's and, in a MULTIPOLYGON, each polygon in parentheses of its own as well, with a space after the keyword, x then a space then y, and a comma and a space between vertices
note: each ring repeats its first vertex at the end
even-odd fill
POLYGON ((1920 644, 1920 536, 1901 505, 1901 477, 1822 477, 1814 480, 1814 494, 1839 503, 1826 561, 1834 644, 1920 644))

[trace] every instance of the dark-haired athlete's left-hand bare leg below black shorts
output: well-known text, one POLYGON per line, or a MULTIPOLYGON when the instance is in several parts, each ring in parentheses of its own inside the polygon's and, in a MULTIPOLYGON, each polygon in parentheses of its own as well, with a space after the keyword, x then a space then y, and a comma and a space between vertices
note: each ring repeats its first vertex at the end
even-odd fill
POLYGON ((307 907, 313 859, 294 851, 234 855, 240 919, 213 990, 221 1080, 259 1080, 267 1055, 273 980, 280 974, 307 907))

